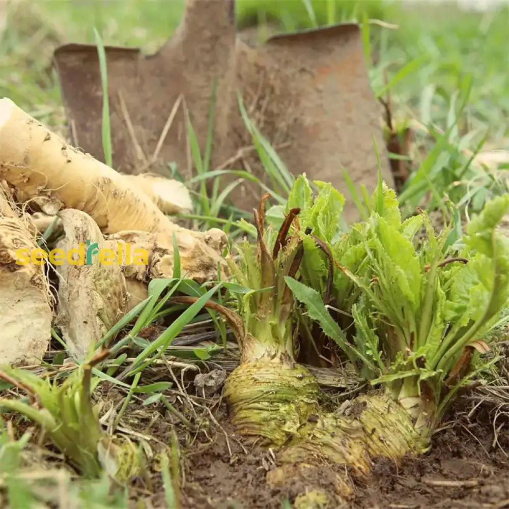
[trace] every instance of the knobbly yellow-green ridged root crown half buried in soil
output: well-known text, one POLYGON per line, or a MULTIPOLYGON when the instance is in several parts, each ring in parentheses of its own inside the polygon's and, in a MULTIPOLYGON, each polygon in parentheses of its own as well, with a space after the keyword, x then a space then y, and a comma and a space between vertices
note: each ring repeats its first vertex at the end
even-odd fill
POLYGON ((241 364, 225 382, 224 396, 238 432, 279 447, 277 466, 267 473, 272 488, 298 484, 303 493, 319 494, 320 476, 308 474, 327 464, 337 476, 332 482, 336 499, 326 507, 336 507, 353 495, 349 471, 365 478, 375 457, 398 462, 427 450, 428 437, 387 395, 362 395, 346 411, 326 411, 320 394, 314 377, 299 364, 267 359, 241 364))

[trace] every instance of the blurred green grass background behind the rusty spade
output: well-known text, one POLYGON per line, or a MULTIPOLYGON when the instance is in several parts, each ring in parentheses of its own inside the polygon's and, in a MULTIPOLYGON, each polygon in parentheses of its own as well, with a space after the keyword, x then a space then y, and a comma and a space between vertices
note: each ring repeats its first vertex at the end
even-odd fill
MULTIPOLYGON (((106 45, 154 52, 183 8, 184 0, 4 2, 0 97, 65 133, 53 49, 94 43, 96 28, 106 45)), ((487 172, 470 162, 481 148, 509 149, 508 2, 466 11, 431 0, 237 0, 236 16, 239 31, 258 26, 262 35, 266 26, 362 23, 374 92, 386 97, 388 89, 396 129, 410 125, 416 133, 414 168, 401 195, 409 210, 425 196, 436 208, 444 193, 478 210, 493 193, 507 191, 507 168, 487 172)))

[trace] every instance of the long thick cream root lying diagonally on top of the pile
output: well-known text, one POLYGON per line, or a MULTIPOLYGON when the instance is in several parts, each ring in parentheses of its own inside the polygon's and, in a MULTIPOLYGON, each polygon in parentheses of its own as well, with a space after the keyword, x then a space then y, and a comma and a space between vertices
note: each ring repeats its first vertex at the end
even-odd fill
POLYGON ((0 100, 0 179, 47 214, 68 208, 86 212, 104 234, 151 232, 171 243, 175 233, 179 244, 201 243, 198 250, 213 261, 213 270, 218 264, 226 270, 218 248, 227 242, 221 230, 192 232, 172 223, 139 186, 68 145, 8 98, 0 100))

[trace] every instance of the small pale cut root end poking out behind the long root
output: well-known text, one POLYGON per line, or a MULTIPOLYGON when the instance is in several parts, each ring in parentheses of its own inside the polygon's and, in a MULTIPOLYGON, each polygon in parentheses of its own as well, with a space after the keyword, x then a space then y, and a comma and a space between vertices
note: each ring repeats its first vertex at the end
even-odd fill
POLYGON ((190 214, 193 210, 187 187, 178 180, 143 173, 123 175, 136 189, 145 193, 164 214, 190 214))

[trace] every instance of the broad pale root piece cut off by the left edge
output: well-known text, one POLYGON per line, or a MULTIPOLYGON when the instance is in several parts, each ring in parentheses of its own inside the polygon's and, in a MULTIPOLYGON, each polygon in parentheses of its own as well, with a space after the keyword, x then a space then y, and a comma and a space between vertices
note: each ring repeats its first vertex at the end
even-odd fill
POLYGON ((39 363, 49 345, 51 294, 44 266, 30 260, 36 249, 28 225, 0 187, 0 365, 39 363), (19 249, 27 254, 25 263, 19 263, 19 249))

